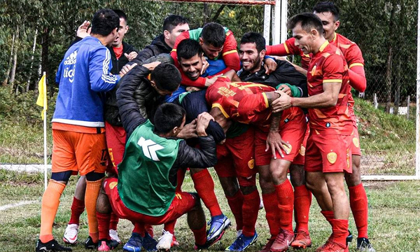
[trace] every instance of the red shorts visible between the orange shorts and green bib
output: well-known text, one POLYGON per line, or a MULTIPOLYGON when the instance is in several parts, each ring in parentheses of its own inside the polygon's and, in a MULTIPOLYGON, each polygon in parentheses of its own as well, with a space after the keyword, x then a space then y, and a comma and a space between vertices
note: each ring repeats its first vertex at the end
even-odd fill
POLYGON ((124 127, 114 126, 105 122, 106 145, 108 146, 109 162, 106 172, 118 174, 118 165, 123 161, 127 133, 124 127))

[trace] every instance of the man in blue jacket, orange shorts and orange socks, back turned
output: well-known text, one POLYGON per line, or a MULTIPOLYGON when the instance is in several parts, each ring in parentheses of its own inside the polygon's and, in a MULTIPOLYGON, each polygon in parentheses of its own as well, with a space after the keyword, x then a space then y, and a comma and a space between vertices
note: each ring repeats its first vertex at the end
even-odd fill
POLYGON ((113 10, 98 10, 92 18, 92 36, 73 44, 59 64, 59 93, 52 118, 52 175, 43 194, 41 232, 36 251, 71 251, 52 237, 52 223, 59 198, 72 174, 85 175, 85 205, 89 238, 85 246, 97 244, 96 202, 106 168, 104 94, 116 86, 120 76, 109 71, 109 46, 118 36, 120 19, 113 10))

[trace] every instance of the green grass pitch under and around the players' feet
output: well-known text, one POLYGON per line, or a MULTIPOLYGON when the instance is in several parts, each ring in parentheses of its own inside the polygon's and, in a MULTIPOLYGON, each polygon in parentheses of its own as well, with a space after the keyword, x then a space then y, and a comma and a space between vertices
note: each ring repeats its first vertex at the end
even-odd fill
MULTIPOLYGON (((211 172, 214 176, 214 173, 211 172)), ((216 178, 214 176, 214 178, 216 178)), ((61 237, 70 217, 70 205, 76 185, 76 176, 73 176, 69 186, 64 190, 61 204, 55 218, 53 233, 57 240, 61 237)), ((223 196, 223 190, 217 179, 216 195, 225 214, 235 219, 230 213, 228 203, 223 196)), ((420 251, 420 181, 400 182, 365 182, 367 197, 369 198, 369 234, 370 241, 378 252, 381 251, 420 251)), ((193 183, 187 176, 183 190, 193 191, 193 183)), ((41 197, 43 193, 43 175, 25 174, 0 170, 0 208, 6 204, 15 204, 22 201, 34 201, 20 207, 0 210, 0 251, 34 251, 39 235, 41 197)), ((330 234, 330 226, 320 214, 320 209, 313 200, 309 228, 314 242, 312 248, 306 251, 315 251, 323 244, 330 234)), ((207 217, 209 213, 206 211, 207 217)), ((353 235, 357 231, 350 216, 350 228, 353 235)), ((132 224, 122 220, 118 224, 118 232, 123 242, 130 238, 132 224)), ((256 225, 258 241, 248 248, 248 251, 258 251, 269 237, 265 211, 259 212, 256 225)), ((155 227, 155 235, 159 236, 162 226, 155 227)), ((176 225, 176 237, 181 246, 176 251, 193 251, 193 233, 188 230, 186 216, 180 218, 176 225)), ((73 246, 73 251, 85 251, 82 241, 87 238, 87 218, 81 217, 79 244, 73 246)), ((235 228, 230 228, 210 251, 221 251, 235 239, 235 228)), ((122 251, 119 246, 116 251, 122 251)), ((292 251, 290 249, 290 251, 292 251)), ((356 251, 356 242, 350 245, 350 251, 356 251)))

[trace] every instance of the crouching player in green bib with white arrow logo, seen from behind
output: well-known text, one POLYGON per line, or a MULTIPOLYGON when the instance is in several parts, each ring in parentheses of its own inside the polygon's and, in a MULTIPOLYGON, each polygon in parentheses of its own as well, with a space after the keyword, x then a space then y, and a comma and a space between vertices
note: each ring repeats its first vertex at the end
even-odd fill
MULTIPOLYGON (((177 76, 170 76, 181 81, 179 72, 177 76)), ((135 83, 123 82, 117 92, 120 115, 127 130, 127 148, 118 167, 118 179, 106 179, 98 199, 98 218, 104 223, 100 238, 108 234, 106 223, 111 207, 120 218, 135 223, 165 223, 165 229, 188 213, 195 244, 197 248, 205 248, 206 222, 200 200, 194 194, 176 193, 175 188, 177 169, 210 167, 217 162, 216 144, 205 132, 212 118, 208 113, 197 118, 202 149, 190 148, 185 141, 174 139, 185 125, 185 111, 175 104, 163 104, 155 113, 154 126, 139 113, 132 95, 136 89, 135 83)), ((106 241, 102 244, 106 245, 106 241)), ((158 249, 169 250, 170 244, 169 247, 158 246, 158 249)))

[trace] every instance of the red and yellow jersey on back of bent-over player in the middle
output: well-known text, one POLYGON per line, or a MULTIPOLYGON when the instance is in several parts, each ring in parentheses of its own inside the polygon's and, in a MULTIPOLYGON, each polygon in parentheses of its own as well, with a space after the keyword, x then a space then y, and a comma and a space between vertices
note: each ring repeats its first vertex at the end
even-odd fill
MULTIPOLYGON (((267 127, 271 121, 272 110, 269 109, 265 92, 273 91, 275 88, 267 85, 249 82, 231 83, 229 78, 219 77, 207 88, 206 100, 212 108, 220 109, 225 118, 267 127)), ((283 111, 281 121, 287 123, 298 113, 302 113, 299 108, 287 109, 283 111)))

